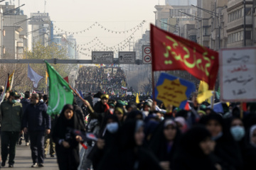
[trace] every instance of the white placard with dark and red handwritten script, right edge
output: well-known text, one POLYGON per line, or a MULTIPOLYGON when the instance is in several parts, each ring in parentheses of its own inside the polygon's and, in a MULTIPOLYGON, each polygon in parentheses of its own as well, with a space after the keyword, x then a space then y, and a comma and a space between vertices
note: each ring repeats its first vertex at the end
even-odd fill
POLYGON ((256 48, 220 51, 222 101, 256 101, 256 48))

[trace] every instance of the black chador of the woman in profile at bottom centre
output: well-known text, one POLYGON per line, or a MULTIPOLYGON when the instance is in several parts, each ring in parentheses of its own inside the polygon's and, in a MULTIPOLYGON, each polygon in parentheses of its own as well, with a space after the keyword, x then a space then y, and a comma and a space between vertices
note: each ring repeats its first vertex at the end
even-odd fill
POLYGON ((122 125, 117 136, 117 145, 112 146, 106 157, 102 158, 97 169, 138 170, 161 169, 154 154, 142 146, 137 146, 134 140, 136 120, 129 120, 122 125))

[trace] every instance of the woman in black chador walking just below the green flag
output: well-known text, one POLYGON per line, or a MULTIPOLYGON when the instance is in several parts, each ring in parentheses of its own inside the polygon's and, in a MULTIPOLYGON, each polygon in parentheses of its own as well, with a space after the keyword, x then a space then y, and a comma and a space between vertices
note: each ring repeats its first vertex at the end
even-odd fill
POLYGON ((84 132, 83 122, 70 104, 63 107, 53 129, 53 141, 56 144, 56 154, 60 170, 78 169, 80 163, 78 145, 79 142, 82 142, 82 137, 73 135, 68 128, 84 132))

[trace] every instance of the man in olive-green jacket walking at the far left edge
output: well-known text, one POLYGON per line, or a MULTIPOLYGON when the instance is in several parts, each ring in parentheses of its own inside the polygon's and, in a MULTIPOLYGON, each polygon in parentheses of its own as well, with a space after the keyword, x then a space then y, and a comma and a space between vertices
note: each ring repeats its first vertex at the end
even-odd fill
POLYGON ((1 166, 5 166, 9 154, 9 167, 14 167, 15 147, 21 132, 22 105, 17 101, 20 97, 12 91, 8 100, 1 103, 1 166))

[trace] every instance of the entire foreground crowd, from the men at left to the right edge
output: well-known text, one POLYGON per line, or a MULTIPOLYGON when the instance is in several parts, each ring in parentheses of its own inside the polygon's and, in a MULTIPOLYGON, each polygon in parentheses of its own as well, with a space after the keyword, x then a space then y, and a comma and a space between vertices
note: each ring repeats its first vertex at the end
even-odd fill
POLYGON ((48 96, 26 91, 20 100, 12 91, 0 106, 1 166, 9 154, 9 167, 14 167, 15 146, 24 132, 32 167, 43 166, 51 140, 50 155, 56 154, 59 169, 255 169, 253 103, 242 114, 240 103, 223 104, 223 113, 215 113, 196 95, 188 110, 149 97, 135 103, 100 91, 85 100, 74 95, 72 105, 50 118, 48 96))

